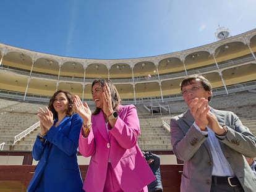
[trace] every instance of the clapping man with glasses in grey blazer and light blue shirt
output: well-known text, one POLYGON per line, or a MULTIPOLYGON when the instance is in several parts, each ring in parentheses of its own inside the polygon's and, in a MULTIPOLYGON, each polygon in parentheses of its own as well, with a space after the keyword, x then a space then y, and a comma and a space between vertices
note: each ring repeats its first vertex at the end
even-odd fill
POLYGON ((208 105, 211 84, 202 75, 186 77, 181 93, 189 109, 170 124, 174 154, 184 161, 181 192, 255 192, 244 157, 256 156, 255 136, 233 112, 208 105))

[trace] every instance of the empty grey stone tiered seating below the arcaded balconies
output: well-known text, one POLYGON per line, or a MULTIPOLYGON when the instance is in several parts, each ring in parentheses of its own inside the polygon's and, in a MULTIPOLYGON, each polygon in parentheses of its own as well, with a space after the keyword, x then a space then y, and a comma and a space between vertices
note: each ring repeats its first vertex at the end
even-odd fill
MULTIPOLYGON (((223 109, 235 112, 242 123, 256 135, 256 94, 244 91, 242 93, 214 96, 210 105, 215 109, 223 109), (246 99, 244 99, 246 98, 246 99)), ((171 116, 186 111, 184 101, 169 102, 171 116)), ((38 129, 23 138, 14 146, 14 136, 38 122, 36 111, 38 107, 45 107, 47 104, 33 104, 21 101, 0 99, 0 143, 5 142, 4 150, 31 151, 38 129)), ((91 108, 93 110, 93 106, 91 108)), ((137 112, 140 119, 139 146, 143 151, 166 151, 171 150, 170 133, 162 125, 160 114, 150 114, 143 105, 137 105, 137 112)))

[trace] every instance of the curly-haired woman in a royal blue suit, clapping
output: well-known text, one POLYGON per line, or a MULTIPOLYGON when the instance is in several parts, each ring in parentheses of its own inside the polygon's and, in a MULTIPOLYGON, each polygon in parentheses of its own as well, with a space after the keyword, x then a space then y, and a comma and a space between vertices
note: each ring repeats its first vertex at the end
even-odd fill
POLYGON ((82 119, 75 113, 73 96, 58 90, 45 110, 38 110, 40 133, 36 137, 32 155, 35 173, 27 192, 83 191, 77 163, 77 147, 82 119))

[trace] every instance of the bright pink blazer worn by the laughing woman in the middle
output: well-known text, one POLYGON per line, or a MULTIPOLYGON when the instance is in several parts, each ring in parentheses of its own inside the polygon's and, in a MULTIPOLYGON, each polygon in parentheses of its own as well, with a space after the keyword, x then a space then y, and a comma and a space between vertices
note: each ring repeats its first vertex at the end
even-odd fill
POLYGON ((83 183, 87 192, 103 191, 108 162, 111 162, 123 191, 138 192, 155 180, 137 144, 140 123, 135 106, 119 105, 117 113, 119 116, 109 133, 102 111, 92 115, 92 130, 88 138, 80 132, 79 151, 85 157, 91 156, 83 183))

